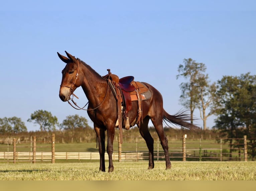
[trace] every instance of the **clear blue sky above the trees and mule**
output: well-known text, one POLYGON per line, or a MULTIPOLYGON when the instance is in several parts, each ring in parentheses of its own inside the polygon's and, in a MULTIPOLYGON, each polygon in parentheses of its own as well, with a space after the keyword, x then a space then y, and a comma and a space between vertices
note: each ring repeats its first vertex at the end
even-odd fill
MULTIPOLYGON (((211 82, 224 75, 256 75, 256 1, 4 1, 0 7, 0 118, 27 122, 38 109, 61 123, 68 115, 85 116, 58 97, 65 64, 57 53, 70 54, 100 75, 134 76, 163 96, 174 114, 179 103, 177 68, 184 58, 206 65, 211 82)), ((87 99, 76 90, 78 104, 87 99)), ((195 117, 200 118, 199 112, 195 117)), ((215 116, 207 126, 214 125, 215 116)), ((198 120, 199 126, 202 121, 198 120)))

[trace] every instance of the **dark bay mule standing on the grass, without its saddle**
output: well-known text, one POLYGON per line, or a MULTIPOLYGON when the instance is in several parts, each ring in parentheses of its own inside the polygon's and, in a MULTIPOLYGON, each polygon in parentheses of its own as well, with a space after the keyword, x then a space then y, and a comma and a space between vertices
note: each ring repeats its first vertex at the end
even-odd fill
MULTIPOLYGON (((65 51, 66 52, 66 51, 65 51)), ((112 154, 113 140, 115 135, 115 124, 118 119, 117 100, 108 81, 100 76, 89 65, 75 58, 68 52, 67 57, 60 55, 58 57, 66 63, 66 67, 62 70, 62 81, 59 89, 59 97, 62 101, 69 101, 71 95, 78 87, 82 87, 88 101, 88 116, 94 123, 96 132, 99 154, 100 154, 100 171, 105 172, 105 131, 107 131, 107 153, 109 157, 108 172, 114 170, 112 154)), ((161 141, 165 155, 166 169, 171 168, 171 162, 168 151, 168 140, 164 134, 163 122, 174 123, 192 130, 198 130, 199 127, 187 121, 190 120, 189 115, 184 112, 178 112, 174 115, 168 114, 163 109, 162 95, 151 85, 144 83, 151 93, 148 100, 142 101, 142 122, 137 123, 141 136, 145 139, 149 150, 148 169, 154 168, 154 140, 148 130, 149 119, 152 121, 155 130, 161 141)), ((132 108, 129 111, 129 120, 136 120, 138 114, 138 104, 132 101, 132 108)), ((169 126, 169 125, 168 125, 169 126)), ((122 128, 119 129, 122 131, 122 128)))

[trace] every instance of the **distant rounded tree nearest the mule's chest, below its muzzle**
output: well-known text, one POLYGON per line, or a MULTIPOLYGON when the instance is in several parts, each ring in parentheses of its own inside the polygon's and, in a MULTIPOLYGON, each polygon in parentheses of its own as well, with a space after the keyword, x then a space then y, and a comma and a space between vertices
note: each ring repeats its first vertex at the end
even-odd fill
POLYGON ((65 130, 75 130, 76 128, 90 127, 87 119, 79 116, 78 114, 67 116, 59 126, 61 129, 65 130))

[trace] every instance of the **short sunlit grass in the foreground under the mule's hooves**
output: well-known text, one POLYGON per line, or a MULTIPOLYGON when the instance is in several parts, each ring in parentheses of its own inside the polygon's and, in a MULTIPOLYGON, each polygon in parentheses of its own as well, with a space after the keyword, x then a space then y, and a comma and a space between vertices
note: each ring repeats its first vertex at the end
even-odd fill
MULTIPOLYGON (((108 166, 106 162, 106 166, 108 166)), ((112 173, 99 172, 99 162, 0 164, 0 180, 256 180, 255 162, 114 162, 112 173)))

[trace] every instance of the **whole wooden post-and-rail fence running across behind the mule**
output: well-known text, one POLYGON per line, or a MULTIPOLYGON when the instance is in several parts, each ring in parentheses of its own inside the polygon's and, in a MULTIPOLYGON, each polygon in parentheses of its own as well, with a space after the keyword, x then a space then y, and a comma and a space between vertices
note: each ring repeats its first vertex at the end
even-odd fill
MULTIPOLYGON (((153 137, 155 140, 154 147, 154 160, 164 160, 164 152, 161 147, 158 137, 153 137)), ((183 137, 169 137, 169 155, 170 160, 238 160, 247 161, 247 137, 242 139, 235 139, 233 143, 229 139, 223 138, 188 138, 186 135, 183 137), (227 141, 229 142, 227 144, 227 141), (235 147, 234 147, 235 146, 235 147), (231 151, 232 150, 232 153, 231 151)), ((120 140, 120 137, 119 137, 120 140)), ((234 140, 234 139, 233 139, 234 140)), ((55 159, 76 159, 76 160, 99 160, 98 152, 55 152, 55 135, 24 138, 20 141, 17 138, 5 137, 3 146, 7 151, 0 152, 0 162, 13 162, 16 161, 51 161, 55 159), (30 140, 29 140, 30 139, 30 140), (30 143, 28 149, 30 151, 21 151, 24 146, 17 143, 30 143), (51 143, 51 146, 37 146, 36 143, 51 143)), ((26 144, 27 145, 27 144, 26 144)), ((49 144, 46 144, 49 145, 49 144)), ((144 139, 141 137, 124 137, 123 144, 118 144, 118 149, 114 149, 112 157, 113 160, 118 161, 140 161, 148 160, 148 149, 144 139)), ((108 159, 105 153, 105 159, 108 159)))

